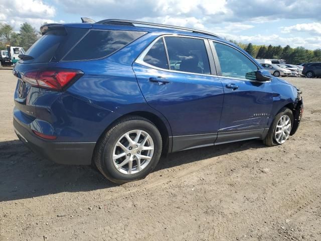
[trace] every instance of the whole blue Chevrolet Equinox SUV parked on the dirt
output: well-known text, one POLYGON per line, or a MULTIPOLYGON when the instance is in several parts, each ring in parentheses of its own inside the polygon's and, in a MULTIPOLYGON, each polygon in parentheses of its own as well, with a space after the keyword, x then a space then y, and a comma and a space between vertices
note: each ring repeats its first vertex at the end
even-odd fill
POLYGON ((128 20, 46 24, 13 72, 19 139, 109 180, 144 178, 161 155, 237 142, 283 144, 300 91, 217 35, 128 20))

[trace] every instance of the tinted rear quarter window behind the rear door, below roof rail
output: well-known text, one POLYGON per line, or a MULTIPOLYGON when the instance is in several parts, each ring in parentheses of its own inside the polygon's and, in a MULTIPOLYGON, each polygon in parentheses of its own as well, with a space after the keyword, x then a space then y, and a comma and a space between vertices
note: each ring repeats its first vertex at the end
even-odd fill
POLYGON ((144 32, 91 30, 63 60, 90 60, 106 57, 138 39, 144 32))

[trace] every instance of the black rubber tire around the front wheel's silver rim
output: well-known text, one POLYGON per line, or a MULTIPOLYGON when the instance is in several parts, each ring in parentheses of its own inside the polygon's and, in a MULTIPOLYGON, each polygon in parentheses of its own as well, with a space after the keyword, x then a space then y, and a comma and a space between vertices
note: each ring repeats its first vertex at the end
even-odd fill
MULTIPOLYGON (((272 146, 275 146, 275 145, 281 145, 283 144, 284 142, 279 142, 276 140, 276 137, 279 137, 279 134, 276 136, 275 135, 275 132, 276 132, 276 129, 277 129, 277 124, 278 122, 280 121, 280 118, 282 116, 288 116, 289 120, 290 120, 290 129, 287 130, 288 131, 288 135, 286 134, 286 139, 283 140, 284 142, 288 139, 289 137, 289 134, 291 132, 291 129, 292 129, 292 126, 293 126, 293 113, 292 111, 289 109, 289 108, 282 108, 274 117, 273 119, 273 122, 269 128, 269 131, 265 137, 265 139, 263 140, 263 143, 268 146, 268 147, 272 147, 272 146)), ((287 124, 288 125, 288 124, 287 124)), ((280 128, 278 128, 278 130, 280 130, 280 128)), ((284 131, 284 133, 286 133, 286 131, 284 131)))

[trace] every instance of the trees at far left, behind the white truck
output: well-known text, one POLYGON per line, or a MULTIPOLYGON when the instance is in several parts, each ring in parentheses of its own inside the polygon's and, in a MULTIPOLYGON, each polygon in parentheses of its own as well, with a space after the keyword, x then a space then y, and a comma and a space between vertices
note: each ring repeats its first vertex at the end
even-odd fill
POLYGON ((26 51, 40 36, 41 34, 28 23, 22 24, 19 32, 15 32, 9 24, 0 24, 0 50, 7 50, 7 45, 11 45, 23 47, 26 51))

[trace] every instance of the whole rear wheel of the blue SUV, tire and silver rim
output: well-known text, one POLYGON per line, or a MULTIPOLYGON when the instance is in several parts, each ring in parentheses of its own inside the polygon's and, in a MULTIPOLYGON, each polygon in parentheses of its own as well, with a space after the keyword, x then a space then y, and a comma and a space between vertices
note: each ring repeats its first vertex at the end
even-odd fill
POLYGON ((155 168, 161 154, 162 136, 155 125, 141 116, 127 116, 102 135, 95 148, 94 162, 108 180, 122 184, 145 178, 155 168), (132 140, 131 144, 128 138, 132 140))

